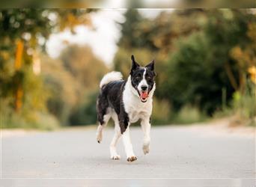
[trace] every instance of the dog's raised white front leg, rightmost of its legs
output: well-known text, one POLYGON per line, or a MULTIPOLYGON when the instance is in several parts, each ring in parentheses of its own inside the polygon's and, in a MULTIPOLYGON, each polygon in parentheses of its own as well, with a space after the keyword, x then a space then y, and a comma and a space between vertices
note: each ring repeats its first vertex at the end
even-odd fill
POLYGON ((150 145, 150 117, 145 117, 144 119, 141 120, 141 129, 144 133, 144 138, 143 138, 143 152, 144 154, 149 153, 149 145, 150 145))

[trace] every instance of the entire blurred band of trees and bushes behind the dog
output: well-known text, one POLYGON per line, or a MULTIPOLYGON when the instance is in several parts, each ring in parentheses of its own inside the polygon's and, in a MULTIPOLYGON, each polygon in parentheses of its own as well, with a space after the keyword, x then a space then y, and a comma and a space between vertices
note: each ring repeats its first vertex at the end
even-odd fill
POLYGON ((0 10, 1 127, 95 124, 100 79, 111 70, 127 78, 131 54, 142 65, 156 60, 153 125, 232 116, 234 123, 255 126, 254 9, 162 10, 153 18, 123 10, 111 64, 88 45, 67 42, 58 58, 46 52, 51 34, 76 34, 79 25, 93 31, 99 11, 0 10))

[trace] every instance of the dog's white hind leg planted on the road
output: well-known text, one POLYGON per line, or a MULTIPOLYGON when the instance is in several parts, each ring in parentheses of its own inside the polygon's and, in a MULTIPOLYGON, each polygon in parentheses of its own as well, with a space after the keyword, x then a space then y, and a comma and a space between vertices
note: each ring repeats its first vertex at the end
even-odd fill
POLYGON ((112 115, 113 120, 115 121, 115 135, 112 139, 112 142, 110 144, 109 150, 110 150, 110 158, 111 159, 120 159, 121 157, 118 155, 117 153, 117 144, 118 144, 118 140, 121 137, 121 130, 120 130, 120 126, 119 126, 119 121, 118 121, 118 115, 117 114, 113 114, 112 115))

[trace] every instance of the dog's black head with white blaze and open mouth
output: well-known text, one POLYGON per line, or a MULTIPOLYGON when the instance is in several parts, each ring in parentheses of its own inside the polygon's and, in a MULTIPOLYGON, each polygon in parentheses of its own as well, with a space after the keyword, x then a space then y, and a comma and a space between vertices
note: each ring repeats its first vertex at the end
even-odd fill
POLYGON ((155 84, 154 60, 147 66, 141 67, 132 55, 132 70, 130 72, 132 87, 138 93, 141 102, 147 102, 147 97, 155 84))

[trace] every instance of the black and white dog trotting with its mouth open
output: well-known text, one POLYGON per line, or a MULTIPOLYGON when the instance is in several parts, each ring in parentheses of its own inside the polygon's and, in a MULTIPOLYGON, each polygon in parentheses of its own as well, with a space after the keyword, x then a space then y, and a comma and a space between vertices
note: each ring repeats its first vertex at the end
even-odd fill
POLYGON ((100 82, 100 95, 97 99, 97 119, 100 122, 97 128, 97 141, 103 138, 103 127, 110 117, 115 121, 115 135, 110 144, 112 159, 120 159, 116 145, 123 136, 127 161, 137 158, 132 150, 129 138, 129 125, 141 120, 141 129, 144 132, 143 151, 149 153, 150 144, 150 115, 152 113, 153 92, 156 89, 154 82, 154 61, 141 67, 132 55, 132 70, 127 81, 122 79, 120 72, 107 73, 100 82))

